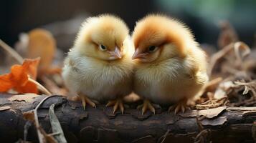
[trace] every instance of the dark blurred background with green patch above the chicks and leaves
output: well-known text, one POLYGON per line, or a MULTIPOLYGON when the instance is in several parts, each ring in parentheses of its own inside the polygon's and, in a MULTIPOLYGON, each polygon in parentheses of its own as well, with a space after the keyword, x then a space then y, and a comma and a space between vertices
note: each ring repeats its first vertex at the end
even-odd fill
POLYGON ((13 46, 19 34, 41 27, 52 32, 60 49, 69 49, 87 16, 120 16, 131 31, 146 14, 161 13, 184 21, 196 41, 217 46, 219 22, 229 21, 239 39, 252 45, 256 33, 256 1, 247 0, 20 0, 1 1, 0 38, 13 46))

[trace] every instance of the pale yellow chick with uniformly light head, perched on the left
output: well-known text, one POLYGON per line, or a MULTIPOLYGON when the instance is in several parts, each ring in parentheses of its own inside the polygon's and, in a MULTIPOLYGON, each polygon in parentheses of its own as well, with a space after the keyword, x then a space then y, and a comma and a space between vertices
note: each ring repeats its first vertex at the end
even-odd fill
POLYGON ((113 112, 120 108, 122 98, 132 91, 133 44, 126 24, 108 14, 85 20, 75 44, 65 59, 62 77, 67 88, 78 94, 85 109, 90 99, 109 101, 113 112))

